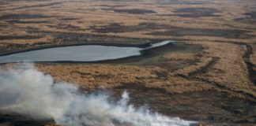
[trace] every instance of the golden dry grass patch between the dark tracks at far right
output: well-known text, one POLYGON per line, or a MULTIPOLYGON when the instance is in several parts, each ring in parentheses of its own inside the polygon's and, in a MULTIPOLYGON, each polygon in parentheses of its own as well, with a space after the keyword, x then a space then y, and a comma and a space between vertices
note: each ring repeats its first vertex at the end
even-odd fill
POLYGON ((243 61, 243 47, 231 43, 200 43, 208 46, 205 57, 219 57, 220 60, 199 78, 219 83, 230 91, 244 91, 256 96, 256 88, 249 80, 247 65, 243 61))

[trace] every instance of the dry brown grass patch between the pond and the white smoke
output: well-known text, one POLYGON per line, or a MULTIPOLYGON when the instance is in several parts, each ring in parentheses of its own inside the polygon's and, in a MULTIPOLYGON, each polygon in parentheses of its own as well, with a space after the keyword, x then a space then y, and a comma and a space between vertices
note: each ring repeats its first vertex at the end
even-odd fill
POLYGON ((155 66, 134 65, 36 65, 40 71, 49 72, 58 81, 77 83, 85 90, 120 86, 122 83, 147 83, 156 80, 155 66))

